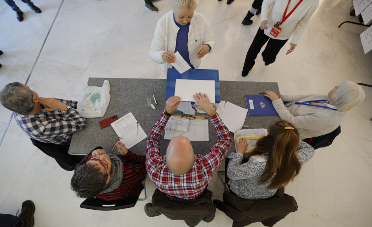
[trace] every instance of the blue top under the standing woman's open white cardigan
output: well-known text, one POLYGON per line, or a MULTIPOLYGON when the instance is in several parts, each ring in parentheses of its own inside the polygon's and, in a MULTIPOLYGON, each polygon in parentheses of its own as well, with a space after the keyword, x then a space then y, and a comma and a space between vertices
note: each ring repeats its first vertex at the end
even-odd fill
POLYGON ((187 25, 178 24, 174 18, 174 13, 173 13, 173 19, 174 19, 175 24, 179 27, 179 30, 177 33, 177 39, 175 41, 174 52, 178 51, 183 57, 183 59, 185 59, 187 64, 189 64, 190 67, 194 69, 194 66, 191 65, 191 62, 190 62, 189 48, 187 47, 190 22, 187 25))

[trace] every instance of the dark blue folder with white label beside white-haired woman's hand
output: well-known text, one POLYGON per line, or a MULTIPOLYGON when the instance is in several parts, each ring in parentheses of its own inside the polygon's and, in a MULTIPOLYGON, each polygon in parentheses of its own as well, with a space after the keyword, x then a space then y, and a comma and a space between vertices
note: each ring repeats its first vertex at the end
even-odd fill
POLYGON ((278 116, 273 103, 264 95, 246 95, 248 116, 278 116))

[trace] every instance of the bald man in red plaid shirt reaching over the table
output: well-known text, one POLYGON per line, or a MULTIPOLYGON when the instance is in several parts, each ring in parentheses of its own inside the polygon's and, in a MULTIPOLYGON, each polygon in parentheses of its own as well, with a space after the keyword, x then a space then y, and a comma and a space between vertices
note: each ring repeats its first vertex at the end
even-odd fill
POLYGON ((197 93, 194 98, 199 103, 194 107, 208 114, 218 137, 217 142, 207 154, 195 155, 190 140, 179 135, 172 138, 166 156, 160 155, 159 141, 169 117, 181 102, 179 97, 173 96, 166 101, 164 113, 147 138, 148 176, 161 192, 184 200, 196 199, 203 194, 231 144, 229 129, 222 122, 206 94, 197 93))

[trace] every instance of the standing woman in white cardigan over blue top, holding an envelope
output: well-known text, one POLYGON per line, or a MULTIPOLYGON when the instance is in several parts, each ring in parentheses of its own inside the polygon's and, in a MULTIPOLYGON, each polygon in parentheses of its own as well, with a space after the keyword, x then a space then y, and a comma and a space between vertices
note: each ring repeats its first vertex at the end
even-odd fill
POLYGON ((179 52, 191 68, 200 66, 201 58, 212 52, 215 42, 204 16, 194 10, 198 0, 172 0, 173 10, 161 17, 156 25, 149 56, 167 69, 179 52))

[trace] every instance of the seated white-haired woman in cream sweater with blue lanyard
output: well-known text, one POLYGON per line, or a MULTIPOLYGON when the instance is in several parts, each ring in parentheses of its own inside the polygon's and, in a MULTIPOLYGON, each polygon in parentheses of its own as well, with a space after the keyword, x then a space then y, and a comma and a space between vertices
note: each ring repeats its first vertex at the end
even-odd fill
POLYGON ((265 93, 280 118, 298 129, 300 140, 332 132, 340 126, 347 111, 366 97, 361 86, 350 80, 335 86, 328 95, 280 95, 279 99, 273 91, 265 93))

